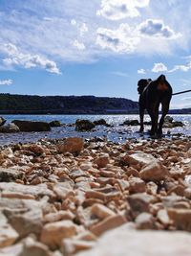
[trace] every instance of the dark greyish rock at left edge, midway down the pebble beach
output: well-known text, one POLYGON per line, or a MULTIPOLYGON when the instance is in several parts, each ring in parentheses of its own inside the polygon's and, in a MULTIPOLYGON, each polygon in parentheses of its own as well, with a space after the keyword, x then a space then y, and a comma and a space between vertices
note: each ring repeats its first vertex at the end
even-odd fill
POLYGON ((23 172, 15 169, 6 169, 0 167, 0 182, 11 182, 16 179, 22 179, 24 176, 23 172))

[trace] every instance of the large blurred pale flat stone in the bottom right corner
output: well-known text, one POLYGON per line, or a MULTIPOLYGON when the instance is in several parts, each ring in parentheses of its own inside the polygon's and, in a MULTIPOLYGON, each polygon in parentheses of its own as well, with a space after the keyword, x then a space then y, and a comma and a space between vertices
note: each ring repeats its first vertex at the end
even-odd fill
POLYGON ((190 256, 191 236, 186 232, 134 231, 124 226, 107 232, 95 247, 77 256, 190 256))

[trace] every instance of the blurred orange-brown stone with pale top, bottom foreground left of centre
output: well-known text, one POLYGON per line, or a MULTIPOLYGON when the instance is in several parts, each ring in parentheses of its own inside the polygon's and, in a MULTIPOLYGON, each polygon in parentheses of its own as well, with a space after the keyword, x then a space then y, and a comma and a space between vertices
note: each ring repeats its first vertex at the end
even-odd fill
POLYGON ((41 233, 41 242, 52 249, 61 245, 65 238, 74 237, 77 227, 73 221, 56 221, 45 224, 41 233))

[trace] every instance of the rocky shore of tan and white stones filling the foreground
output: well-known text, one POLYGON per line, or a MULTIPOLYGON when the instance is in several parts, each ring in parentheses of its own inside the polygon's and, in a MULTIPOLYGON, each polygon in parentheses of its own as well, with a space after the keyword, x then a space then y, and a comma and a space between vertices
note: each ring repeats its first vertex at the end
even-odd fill
POLYGON ((0 255, 188 256, 190 199, 188 137, 1 147, 0 255))

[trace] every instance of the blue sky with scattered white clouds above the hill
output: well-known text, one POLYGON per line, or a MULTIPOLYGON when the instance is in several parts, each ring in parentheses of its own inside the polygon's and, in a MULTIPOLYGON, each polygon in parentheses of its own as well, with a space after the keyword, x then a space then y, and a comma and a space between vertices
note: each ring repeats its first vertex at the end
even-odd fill
POLYGON ((0 93, 138 101, 160 74, 189 90, 190 16, 190 0, 0 0, 0 93))

